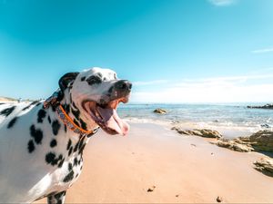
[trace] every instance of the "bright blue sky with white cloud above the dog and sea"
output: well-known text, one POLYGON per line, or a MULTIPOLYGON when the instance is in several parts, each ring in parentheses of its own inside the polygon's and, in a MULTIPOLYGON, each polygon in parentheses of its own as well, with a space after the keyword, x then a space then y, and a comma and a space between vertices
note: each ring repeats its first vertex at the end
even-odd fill
POLYGON ((99 66, 131 102, 272 102, 271 0, 0 0, 0 95, 99 66))

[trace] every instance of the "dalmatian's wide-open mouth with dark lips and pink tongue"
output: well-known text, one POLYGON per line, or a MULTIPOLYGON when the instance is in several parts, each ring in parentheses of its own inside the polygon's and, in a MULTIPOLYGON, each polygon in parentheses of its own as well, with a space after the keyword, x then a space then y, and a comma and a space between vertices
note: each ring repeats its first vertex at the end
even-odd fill
POLYGON ((119 118, 116 108, 119 102, 128 102, 127 97, 119 98, 108 103, 84 102, 84 108, 91 118, 108 134, 126 135, 129 125, 119 118))

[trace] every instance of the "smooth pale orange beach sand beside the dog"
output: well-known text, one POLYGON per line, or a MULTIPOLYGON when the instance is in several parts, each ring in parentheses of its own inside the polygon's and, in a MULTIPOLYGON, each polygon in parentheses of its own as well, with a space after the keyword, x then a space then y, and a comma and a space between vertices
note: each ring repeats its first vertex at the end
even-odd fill
POLYGON ((252 167, 262 156, 155 124, 131 124, 126 137, 100 131, 86 146, 82 175, 67 190, 66 203, 212 203, 217 196, 272 203, 273 178, 252 167))

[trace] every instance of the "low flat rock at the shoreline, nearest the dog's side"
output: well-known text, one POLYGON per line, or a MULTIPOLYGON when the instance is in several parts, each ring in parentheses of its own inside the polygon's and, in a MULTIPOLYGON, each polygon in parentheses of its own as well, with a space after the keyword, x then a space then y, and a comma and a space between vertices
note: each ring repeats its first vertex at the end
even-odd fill
POLYGON ((173 127, 173 131, 177 131, 179 134, 186 134, 186 135, 196 135, 203 138, 222 138, 222 135, 218 131, 213 131, 209 129, 194 129, 194 130, 183 130, 180 127, 173 127))

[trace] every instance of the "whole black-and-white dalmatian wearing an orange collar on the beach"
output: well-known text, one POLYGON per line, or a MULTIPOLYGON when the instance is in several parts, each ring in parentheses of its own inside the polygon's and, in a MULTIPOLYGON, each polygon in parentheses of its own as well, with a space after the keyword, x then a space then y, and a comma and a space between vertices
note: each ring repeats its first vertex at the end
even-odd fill
POLYGON ((116 108, 131 87, 112 70, 92 68, 66 73, 45 102, 0 103, 0 203, 64 203, 90 137, 99 128, 127 133, 116 108))

